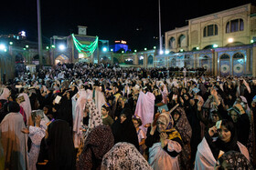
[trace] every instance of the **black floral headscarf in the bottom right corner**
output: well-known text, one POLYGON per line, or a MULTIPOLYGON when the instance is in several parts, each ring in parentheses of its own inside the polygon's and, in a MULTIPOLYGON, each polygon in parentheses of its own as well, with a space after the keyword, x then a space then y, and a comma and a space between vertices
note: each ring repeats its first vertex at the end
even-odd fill
POLYGON ((226 162, 226 165, 229 167, 229 169, 253 170, 251 163, 240 152, 229 151, 225 153, 219 157, 219 165, 222 165, 224 161, 226 162))

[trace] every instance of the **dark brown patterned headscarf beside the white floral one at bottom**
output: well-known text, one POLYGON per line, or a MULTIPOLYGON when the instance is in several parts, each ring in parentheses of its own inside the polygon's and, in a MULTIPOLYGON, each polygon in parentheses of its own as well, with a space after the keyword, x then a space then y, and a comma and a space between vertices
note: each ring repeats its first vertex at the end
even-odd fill
POLYGON ((91 130, 86 138, 83 150, 79 156, 79 169, 101 169, 101 160, 114 145, 111 127, 98 125, 91 130))

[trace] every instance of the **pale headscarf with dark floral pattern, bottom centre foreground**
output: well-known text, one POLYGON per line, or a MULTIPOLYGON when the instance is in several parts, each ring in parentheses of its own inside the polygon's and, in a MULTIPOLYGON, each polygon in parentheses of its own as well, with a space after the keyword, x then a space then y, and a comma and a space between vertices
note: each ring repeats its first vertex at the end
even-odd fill
POLYGON ((144 156, 134 147, 134 145, 122 142, 114 145, 112 149, 104 155, 101 170, 152 170, 144 156))

